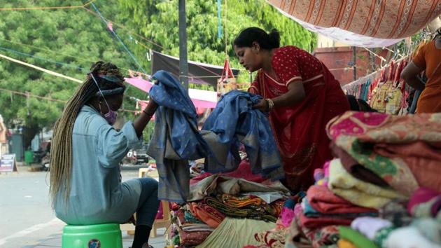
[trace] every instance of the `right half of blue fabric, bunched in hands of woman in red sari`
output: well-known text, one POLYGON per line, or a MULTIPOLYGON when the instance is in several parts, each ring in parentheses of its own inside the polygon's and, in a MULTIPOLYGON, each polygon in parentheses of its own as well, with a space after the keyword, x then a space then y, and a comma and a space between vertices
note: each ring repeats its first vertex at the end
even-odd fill
POLYGON ((240 163, 239 143, 244 144, 253 173, 263 177, 280 179, 281 158, 272 134, 271 125, 265 113, 252 109, 253 104, 261 99, 258 95, 233 90, 223 95, 202 126, 216 134, 215 142, 230 149, 229 156, 207 163, 208 172, 225 172, 235 170, 240 163))

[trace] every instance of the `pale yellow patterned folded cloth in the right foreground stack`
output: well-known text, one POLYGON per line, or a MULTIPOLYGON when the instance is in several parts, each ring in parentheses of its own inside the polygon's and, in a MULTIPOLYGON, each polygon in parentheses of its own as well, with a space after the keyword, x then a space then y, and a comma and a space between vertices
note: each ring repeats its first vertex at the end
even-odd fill
POLYGON ((381 188, 356 179, 344 170, 339 159, 330 163, 328 187, 335 195, 361 207, 380 209, 392 199, 406 199, 405 195, 393 189, 381 188))

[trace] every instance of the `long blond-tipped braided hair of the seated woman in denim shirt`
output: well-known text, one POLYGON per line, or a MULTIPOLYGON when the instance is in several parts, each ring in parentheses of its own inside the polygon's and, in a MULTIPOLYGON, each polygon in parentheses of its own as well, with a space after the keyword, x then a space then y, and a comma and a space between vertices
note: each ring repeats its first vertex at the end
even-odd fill
POLYGON ((85 81, 73 93, 72 97, 66 103, 61 117, 54 126, 52 135, 52 146, 50 150, 50 191, 49 195, 52 201, 52 207, 59 193, 62 193, 64 202, 69 199, 71 191, 71 171, 72 171, 72 132, 73 124, 80 109, 97 95, 99 89, 93 81, 92 76, 97 80, 99 88, 102 90, 112 90, 125 87, 123 85, 124 77, 118 67, 110 62, 96 62, 90 68, 85 81), (98 75, 111 76, 118 78, 119 82, 107 81, 98 75))

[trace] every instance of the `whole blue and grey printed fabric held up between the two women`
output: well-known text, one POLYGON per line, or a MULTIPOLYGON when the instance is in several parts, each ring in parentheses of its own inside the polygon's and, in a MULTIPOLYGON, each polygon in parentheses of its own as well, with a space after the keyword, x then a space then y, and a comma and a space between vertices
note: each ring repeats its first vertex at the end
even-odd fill
POLYGON ((190 187, 188 160, 206 158, 208 172, 235 170, 240 162, 240 143, 245 146, 254 173, 274 180, 283 178, 269 120, 251 108, 257 96, 239 91, 224 95, 199 132, 195 106, 179 81, 167 71, 158 71, 153 78, 159 84, 153 85, 150 97, 160 106, 147 153, 158 167, 160 199, 186 201, 190 187))

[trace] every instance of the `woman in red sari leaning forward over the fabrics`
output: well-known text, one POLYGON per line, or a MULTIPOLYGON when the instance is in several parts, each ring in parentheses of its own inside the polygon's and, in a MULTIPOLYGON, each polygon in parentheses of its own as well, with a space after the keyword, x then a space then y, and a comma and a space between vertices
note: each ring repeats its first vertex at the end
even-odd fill
POLYGON ((264 98, 254 108, 269 111, 286 186, 306 191, 314 184, 314 169, 332 159, 325 125, 349 110, 349 102, 320 60, 279 43, 276 30, 250 27, 235 39, 235 53, 248 71, 258 71, 248 91, 264 98))

